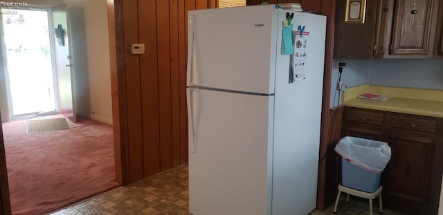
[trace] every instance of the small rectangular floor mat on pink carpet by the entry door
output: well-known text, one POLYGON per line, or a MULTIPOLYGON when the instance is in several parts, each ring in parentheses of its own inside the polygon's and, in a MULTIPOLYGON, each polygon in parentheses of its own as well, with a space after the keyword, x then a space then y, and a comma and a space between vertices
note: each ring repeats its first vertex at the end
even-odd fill
POLYGON ((26 121, 26 133, 69 129, 65 118, 26 121))

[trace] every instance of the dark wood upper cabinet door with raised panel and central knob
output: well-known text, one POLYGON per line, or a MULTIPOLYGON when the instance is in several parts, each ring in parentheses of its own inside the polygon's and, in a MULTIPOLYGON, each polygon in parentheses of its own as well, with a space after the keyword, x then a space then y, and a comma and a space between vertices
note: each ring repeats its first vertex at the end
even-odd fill
POLYGON ((397 0, 392 29, 391 55, 433 55, 435 26, 431 28, 437 0, 397 0))

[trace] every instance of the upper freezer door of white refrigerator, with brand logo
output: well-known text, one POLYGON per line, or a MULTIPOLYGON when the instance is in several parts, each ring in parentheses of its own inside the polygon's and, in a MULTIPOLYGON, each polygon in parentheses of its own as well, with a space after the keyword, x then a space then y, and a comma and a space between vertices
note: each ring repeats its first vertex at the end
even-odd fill
POLYGON ((188 86, 272 94, 274 6, 188 12, 188 86))

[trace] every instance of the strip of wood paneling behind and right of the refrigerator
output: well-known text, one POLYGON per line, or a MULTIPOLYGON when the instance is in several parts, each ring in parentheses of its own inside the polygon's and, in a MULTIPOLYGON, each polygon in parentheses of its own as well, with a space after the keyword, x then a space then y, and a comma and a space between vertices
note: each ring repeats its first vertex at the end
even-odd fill
MULTIPOLYGON (((303 10, 320 12, 327 16, 326 27, 326 49, 325 49, 325 73, 323 75, 323 111, 322 125, 320 134, 320 163, 318 165, 318 189, 317 189, 317 209, 325 209, 334 201, 336 194, 336 154, 334 146, 336 141, 332 135, 329 138, 329 128, 332 115, 329 113, 329 95, 331 94, 331 74, 332 57, 334 53, 334 19, 335 19, 335 0, 247 0, 246 4, 258 5, 262 2, 267 3, 301 3, 303 10), (331 150, 332 148, 332 150, 331 150), (322 158, 324 158, 322 160, 322 158)), ((337 116, 340 118, 340 115, 337 116)), ((341 119, 341 118, 340 118, 341 119)), ((341 120, 336 120, 341 122, 341 120)), ((341 125, 336 124, 334 133, 341 133, 341 125)))

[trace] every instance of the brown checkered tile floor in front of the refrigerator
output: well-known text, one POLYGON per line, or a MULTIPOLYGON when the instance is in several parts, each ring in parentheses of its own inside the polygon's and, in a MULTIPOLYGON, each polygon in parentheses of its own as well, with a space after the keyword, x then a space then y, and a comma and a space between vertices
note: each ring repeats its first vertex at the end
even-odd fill
MULTIPOLYGON (((369 214, 367 200, 351 198, 350 203, 345 204, 345 195, 342 197, 337 214, 369 214)), ((378 212, 377 202, 374 201, 374 214, 378 212)), ((334 205, 331 205, 325 211, 314 210, 309 215, 333 214, 333 208, 334 205)), ((189 214, 188 165, 180 165, 131 185, 112 189, 51 214, 189 214)), ((389 209, 383 209, 383 214, 402 215, 389 209)))

